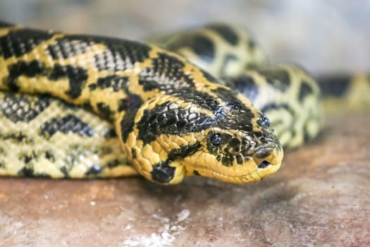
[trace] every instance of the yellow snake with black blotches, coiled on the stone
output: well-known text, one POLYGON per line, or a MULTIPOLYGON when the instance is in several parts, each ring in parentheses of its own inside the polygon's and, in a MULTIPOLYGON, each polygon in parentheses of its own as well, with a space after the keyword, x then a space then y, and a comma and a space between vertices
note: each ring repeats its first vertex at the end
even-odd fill
POLYGON ((137 42, 0 22, 1 176, 259 181, 320 109, 307 71, 233 25, 137 42))

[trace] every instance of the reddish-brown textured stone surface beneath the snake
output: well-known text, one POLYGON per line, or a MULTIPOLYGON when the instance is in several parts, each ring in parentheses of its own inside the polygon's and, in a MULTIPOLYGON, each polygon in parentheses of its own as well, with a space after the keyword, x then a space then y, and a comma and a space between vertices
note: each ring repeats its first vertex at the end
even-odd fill
POLYGON ((369 121, 329 118, 253 184, 0 179, 0 246, 369 246, 369 121))

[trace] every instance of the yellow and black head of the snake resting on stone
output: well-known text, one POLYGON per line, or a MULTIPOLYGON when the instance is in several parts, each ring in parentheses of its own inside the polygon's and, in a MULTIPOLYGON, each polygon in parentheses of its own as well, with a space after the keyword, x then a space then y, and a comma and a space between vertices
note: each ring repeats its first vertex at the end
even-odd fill
POLYGON ((140 174, 164 184, 194 174, 231 183, 259 181, 283 159, 269 119, 222 86, 149 100, 137 111, 124 146, 140 174))

